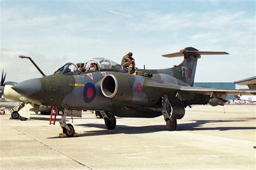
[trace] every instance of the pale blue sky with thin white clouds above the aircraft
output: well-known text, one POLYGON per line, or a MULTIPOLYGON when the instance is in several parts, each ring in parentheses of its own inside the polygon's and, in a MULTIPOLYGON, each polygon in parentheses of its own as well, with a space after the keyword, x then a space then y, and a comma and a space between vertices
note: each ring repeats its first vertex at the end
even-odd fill
POLYGON ((6 81, 42 77, 66 62, 104 57, 136 66, 170 68, 183 58, 163 54, 185 47, 225 51, 203 55, 195 82, 233 82, 255 76, 255 1, 3 1, 0 70, 6 81))

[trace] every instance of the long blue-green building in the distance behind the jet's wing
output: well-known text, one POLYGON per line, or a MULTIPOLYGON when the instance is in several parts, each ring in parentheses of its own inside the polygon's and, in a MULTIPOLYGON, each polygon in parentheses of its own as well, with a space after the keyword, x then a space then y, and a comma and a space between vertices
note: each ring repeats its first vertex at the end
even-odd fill
MULTIPOLYGON (((234 82, 198 82, 194 83, 194 87, 211 87, 218 89, 235 89, 234 82)), ((232 100, 234 95, 227 95, 226 100, 232 100)))

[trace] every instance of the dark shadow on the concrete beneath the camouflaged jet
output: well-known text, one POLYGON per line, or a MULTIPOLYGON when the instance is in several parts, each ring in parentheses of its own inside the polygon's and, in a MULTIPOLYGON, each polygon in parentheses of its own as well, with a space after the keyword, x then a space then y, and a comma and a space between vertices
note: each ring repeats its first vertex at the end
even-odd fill
MULTIPOLYGON (((213 128, 204 128, 204 124, 208 123, 225 123, 225 122, 245 122, 245 121, 209 121, 209 120, 200 120, 194 123, 184 123, 178 124, 177 131, 201 131, 201 130, 255 130, 256 127, 213 127, 213 128)), ((114 130, 106 130, 105 124, 79 124, 78 126, 84 126, 84 128, 100 128, 102 130, 95 131, 84 131, 84 133, 79 133, 79 137, 89 137, 89 136, 102 136, 107 134, 143 134, 143 133, 152 133, 167 131, 165 125, 150 125, 150 126, 127 126, 127 125, 117 125, 114 130)), ((58 138, 58 137, 51 137, 58 138)))

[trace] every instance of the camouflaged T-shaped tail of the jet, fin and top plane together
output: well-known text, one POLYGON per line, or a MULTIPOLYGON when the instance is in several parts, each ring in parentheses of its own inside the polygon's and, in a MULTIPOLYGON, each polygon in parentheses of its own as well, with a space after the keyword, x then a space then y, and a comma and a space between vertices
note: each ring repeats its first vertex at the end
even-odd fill
POLYGON ((206 52, 198 51, 198 49, 193 47, 186 47, 181 49, 180 52, 165 54, 162 56, 173 58, 177 56, 184 56, 183 62, 178 66, 174 66, 172 69, 173 76, 183 82, 187 83, 189 86, 194 84, 194 76, 196 74, 197 60, 201 58, 201 55, 217 55, 217 54, 228 54, 226 52, 206 52))

